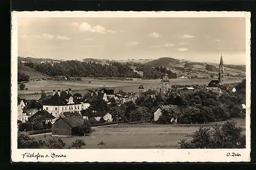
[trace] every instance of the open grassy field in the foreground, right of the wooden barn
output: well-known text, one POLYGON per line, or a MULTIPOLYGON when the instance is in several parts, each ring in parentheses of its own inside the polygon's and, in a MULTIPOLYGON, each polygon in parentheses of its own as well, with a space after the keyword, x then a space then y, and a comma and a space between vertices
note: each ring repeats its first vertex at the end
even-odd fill
MULTIPOLYGON (((245 134, 245 119, 237 119, 238 126, 242 126, 245 134)), ((218 124, 222 124, 220 122, 218 124)), ((178 149, 178 142, 183 138, 191 138, 199 126, 212 126, 211 124, 192 125, 158 125, 158 124, 120 124, 111 127, 95 128, 88 136, 61 137, 68 148, 71 143, 80 138, 86 142, 84 149, 178 149), (104 145, 98 145, 103 141, 104 145)), ((37 140, 44 135, 34 136, 37 140)), ((50 134, 46 135, 46 138, 50 134)))

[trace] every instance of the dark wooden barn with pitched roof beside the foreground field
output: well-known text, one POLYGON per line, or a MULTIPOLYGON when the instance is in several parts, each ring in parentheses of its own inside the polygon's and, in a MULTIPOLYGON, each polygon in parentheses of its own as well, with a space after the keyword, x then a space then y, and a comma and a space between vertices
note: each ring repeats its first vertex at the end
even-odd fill
POLYGON ((83 122, 81 116, 59 117, 52 125, 52 136, 76 136, 83 122))

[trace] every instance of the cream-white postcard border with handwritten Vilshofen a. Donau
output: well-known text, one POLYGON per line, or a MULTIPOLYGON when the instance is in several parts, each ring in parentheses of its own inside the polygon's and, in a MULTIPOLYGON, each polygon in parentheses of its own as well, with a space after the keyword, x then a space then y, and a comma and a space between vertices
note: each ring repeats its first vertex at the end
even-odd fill
POLYGON ((250 161, 250 77, 250 12, 14 11, 11 36, 11 160, 12 162, 248 162, 250 161), (246 149, 17 149, 18 17, 245 17, 246 149), (24 156, 26 153, 34 153, 35 157, 28 158, 24 156), (52 158, 52 153, 66 157, 52 158), (227 156, 228 153, 239 153, 241 156, 227 156))

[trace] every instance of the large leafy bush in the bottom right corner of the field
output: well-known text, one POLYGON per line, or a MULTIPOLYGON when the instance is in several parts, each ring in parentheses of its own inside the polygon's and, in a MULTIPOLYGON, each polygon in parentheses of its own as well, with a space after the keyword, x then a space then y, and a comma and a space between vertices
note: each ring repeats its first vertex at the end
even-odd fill
POLYGON ((242 129, 233 121, 227 121, 223 125, 214 127, 200 127, 193 134, 191 140, 182 139, 179 144, 182 149, 232 149, 245 148, 245 136, 242 129), (237 143, 240 144, 237 144, 237 143))

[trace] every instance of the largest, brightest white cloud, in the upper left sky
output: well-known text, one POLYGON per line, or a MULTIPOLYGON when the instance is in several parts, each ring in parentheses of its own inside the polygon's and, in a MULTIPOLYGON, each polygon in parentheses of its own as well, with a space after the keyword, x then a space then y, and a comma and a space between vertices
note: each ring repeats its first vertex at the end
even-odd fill
POLYGON ((71 24, 71 27, 77 28, 81 32, 91 32, 91 33, 101 33, 101 34, 104 34, 106 32, 108 32, 108 33, 116 33, 116 31, 106 30, 104 27, 99 26, 99 25, 93 27, 93 26, 91 26, 87 22, 81 22, 81 23, 73 22, 71 24))

